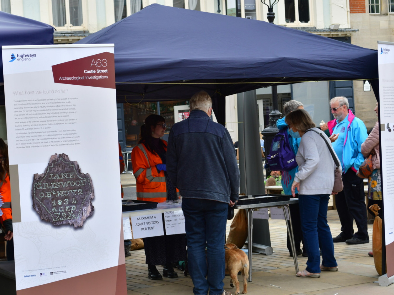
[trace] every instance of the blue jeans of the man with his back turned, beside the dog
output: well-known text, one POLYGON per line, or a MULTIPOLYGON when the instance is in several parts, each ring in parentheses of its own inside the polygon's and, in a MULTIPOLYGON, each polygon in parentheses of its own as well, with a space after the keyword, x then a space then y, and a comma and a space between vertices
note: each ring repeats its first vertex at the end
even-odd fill
POLYGON ((195 295, 223 294, 228 203, 182 198, 188 267, 195 295), (205 248, 207 249, 205 253, 205 248))

